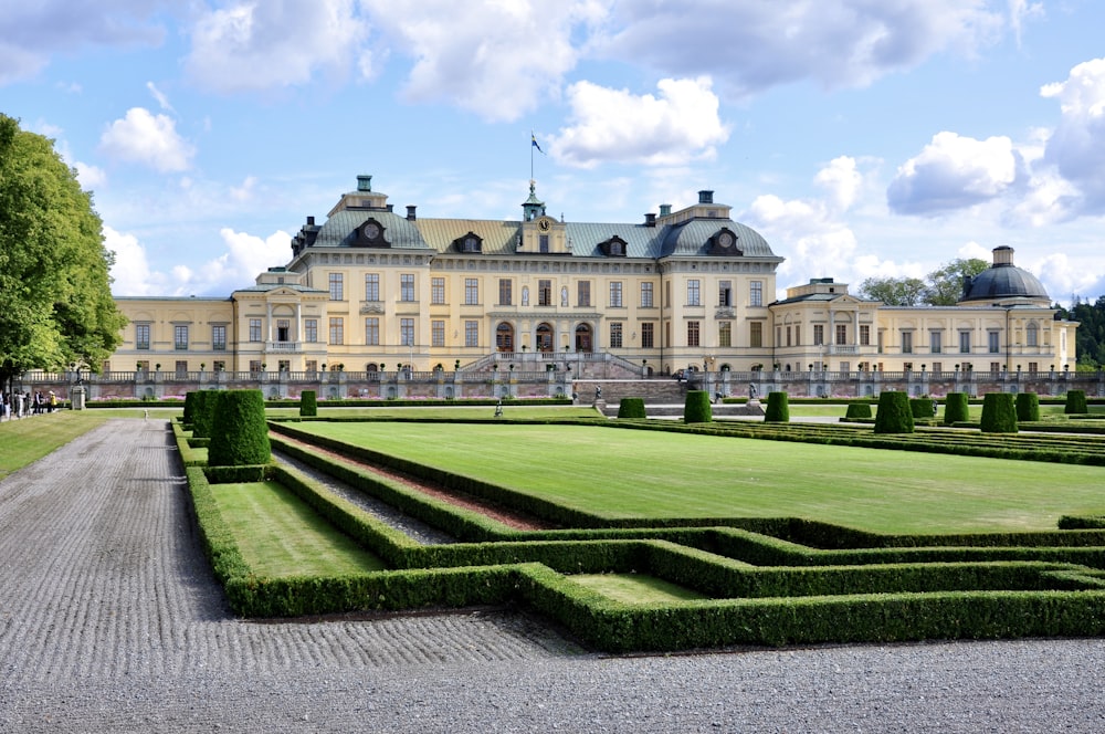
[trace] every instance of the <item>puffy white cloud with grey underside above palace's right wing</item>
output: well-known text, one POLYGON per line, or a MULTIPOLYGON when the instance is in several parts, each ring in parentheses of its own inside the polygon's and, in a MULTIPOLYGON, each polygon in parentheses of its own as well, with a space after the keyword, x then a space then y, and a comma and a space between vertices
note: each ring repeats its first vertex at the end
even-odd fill
POLYGON ((989 201, 1017 180, 1020 157, 1008 137, 986 140, 937 133, 903 164, 886 191, 892 210, 938 214, 989 201))

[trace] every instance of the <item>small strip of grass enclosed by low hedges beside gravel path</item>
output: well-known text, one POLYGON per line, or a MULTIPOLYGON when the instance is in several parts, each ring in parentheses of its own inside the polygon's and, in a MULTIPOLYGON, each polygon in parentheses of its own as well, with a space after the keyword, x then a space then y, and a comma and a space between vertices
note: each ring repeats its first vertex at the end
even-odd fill
POLYGON ((243 559, 259 576, 335 576, 385 568, 280 484, 212 484, 211 492, 243 559))

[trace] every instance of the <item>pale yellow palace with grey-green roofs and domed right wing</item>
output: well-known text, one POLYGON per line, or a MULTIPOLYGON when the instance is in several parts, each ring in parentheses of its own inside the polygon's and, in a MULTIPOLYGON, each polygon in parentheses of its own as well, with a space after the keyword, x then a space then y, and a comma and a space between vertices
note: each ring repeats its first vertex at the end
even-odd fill
POLYGON ((1077 324, 997 248, 949 307, 891 307, 818 279, 776 300, 783 259, 730 207, 698 201, 635 223, 393 211, 359 176, 291 260, 224 297, 118 297, 107 373, 389 373, 547 368, 602 355, 677 370, 1025 373, 1075 361, 1077 324))

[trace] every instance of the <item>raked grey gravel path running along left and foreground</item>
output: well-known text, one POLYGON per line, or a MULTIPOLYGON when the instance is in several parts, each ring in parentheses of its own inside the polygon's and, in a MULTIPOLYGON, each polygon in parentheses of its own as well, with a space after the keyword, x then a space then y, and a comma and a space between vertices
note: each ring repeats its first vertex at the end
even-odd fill
POLYGON ((0 482, 2 732, 1099 732, 1105 641, 607 658, 464 612, 236 620, 164 421, 0 482))

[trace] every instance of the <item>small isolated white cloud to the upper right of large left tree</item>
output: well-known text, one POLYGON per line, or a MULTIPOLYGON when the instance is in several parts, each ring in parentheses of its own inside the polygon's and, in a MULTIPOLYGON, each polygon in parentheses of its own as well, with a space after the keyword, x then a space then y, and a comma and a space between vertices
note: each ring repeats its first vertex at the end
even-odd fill
POLYGON ((172 118, 131 107, 99 138, 99 150, 118 160, 141 164, 161 172, 187 170, 194 148, 177 134, 172 118))

